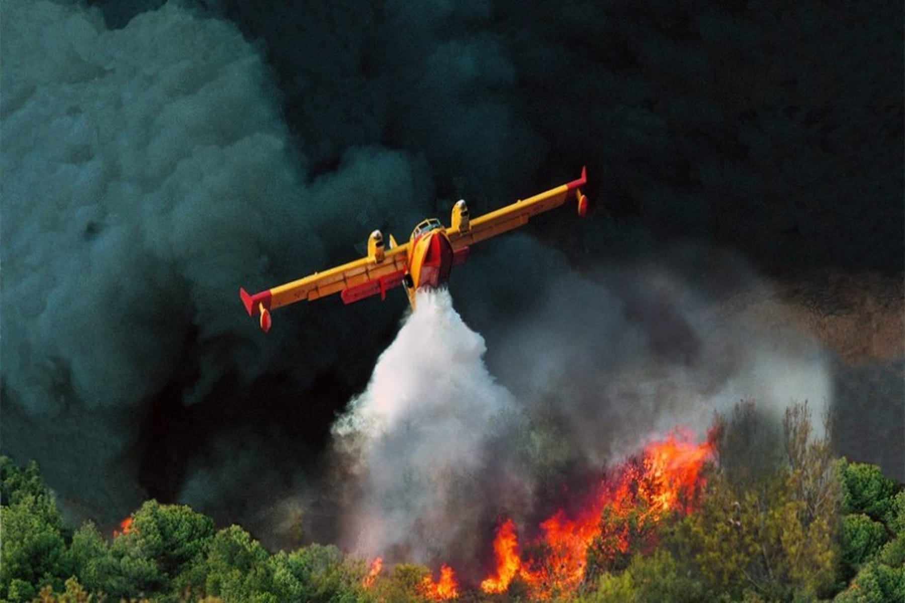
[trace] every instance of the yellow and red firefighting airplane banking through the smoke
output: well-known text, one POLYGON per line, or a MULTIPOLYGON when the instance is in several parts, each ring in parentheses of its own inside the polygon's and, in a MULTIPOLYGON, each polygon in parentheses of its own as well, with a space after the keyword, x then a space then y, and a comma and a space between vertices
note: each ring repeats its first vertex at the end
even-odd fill
POLYGON ((452 224, 449 228, 436 218, 430 218, 415 226, 412 236, 403 245, 397 245, 393 235, 390 235, 389 250, 384 249, 384 235, 374 231, 367 238, 367 258, 315 272, 253 296, 240 287, 239 297, 242 297, 248 316, 259 316, 264 333, 271 329, 273 308, 334 293, 339 293, 344 303, 351 304, 378 293, 381 299, 385 299, 389 289, 402 285, 414 309, 414 292, 422 287, 443 285, 452 266, 462 264, 468 257, 472 243, 511 231, 528 223, 532 216, 559 207, 566 203, 568 193, 572 191, 575 191, 578 202, 578 215, 585 217, 587 197, 578 187, 586 181, 586 168, 582 168, 581 177, 577 180, 485 213, 474 220, 469 220, 468 206, 460 200, 452 206, 452 224))

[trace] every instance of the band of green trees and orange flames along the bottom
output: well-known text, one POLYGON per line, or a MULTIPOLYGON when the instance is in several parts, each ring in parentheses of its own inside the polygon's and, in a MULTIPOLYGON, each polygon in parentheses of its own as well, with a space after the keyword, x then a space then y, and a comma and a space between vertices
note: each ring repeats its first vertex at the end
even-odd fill
POLYGON ((473 582, 450 565, 368 564, 335 546, 271 553, 239 526, 155 501, 112 539, 92 523, 68 532, 37 466, 0 457, 0 598, 905 600, 902 486, 834 458, 803 406, 775 432, 765 420, 740 405, 705 442, 650 443, 575 509, 536 526, 501 517, 487 534, 492 568, 473 582))

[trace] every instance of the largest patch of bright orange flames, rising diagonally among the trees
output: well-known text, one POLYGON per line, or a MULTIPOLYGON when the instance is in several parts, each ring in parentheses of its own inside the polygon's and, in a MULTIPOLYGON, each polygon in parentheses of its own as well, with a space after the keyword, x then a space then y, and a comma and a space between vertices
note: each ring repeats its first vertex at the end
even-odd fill
POLYGON ((676 435, 649 444, 607 476, 574 516, 560 509, 540 524, 531 547, 542 551, 538 559, 522 559, 515 523, 507 519, 493 542, 496 570, 481 581, 481 590, 505 592, 518 576, 533 598, 553 598, 577 589, 588 555, 612 562, 653 549, 654 528, 666 513, 691 512, 711 454, 709 442, 695 444, 676 435))

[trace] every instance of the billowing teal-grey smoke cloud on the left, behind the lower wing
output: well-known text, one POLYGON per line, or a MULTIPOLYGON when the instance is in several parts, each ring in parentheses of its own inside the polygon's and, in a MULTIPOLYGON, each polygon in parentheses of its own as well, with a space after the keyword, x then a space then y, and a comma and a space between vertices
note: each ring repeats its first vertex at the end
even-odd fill
MULTIPOLYGON (((149 399, 192 405, 265 371, 307 387, 337 364, 331 342, 351 338, 287 316, 264 339, 236 311, 238 285, 354 256, 391 205, 420 215, 429 182, 376 147, 309 182, 261 55, 224 21, 167 4, 110 31, 97 11, 9 3, 4 25, 5 448, 65 492, 103 476, 85 502, 122 514, 140 500, 138 459, 111 466, 149 399), (85 453, 61 456, 35 433, 85 453)), ((357 333, 362 346, 391 320, 357 333)), ((181 427, 174 416, 167 437, 181 427)), ((174 462, 159 470, 184 468, 174 462)))

